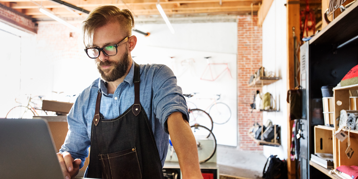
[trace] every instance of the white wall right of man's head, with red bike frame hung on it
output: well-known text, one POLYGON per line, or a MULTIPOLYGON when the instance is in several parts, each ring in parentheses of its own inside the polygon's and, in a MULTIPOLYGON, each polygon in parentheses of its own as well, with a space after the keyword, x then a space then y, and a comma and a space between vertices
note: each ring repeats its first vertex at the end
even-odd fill
MULTIPOLYGON (((165 24, 136 25, 136 29, 149 32, 145 37, 133 32, 138 38, 137 46, 132 51, 133 59, 140 63, 161 63, 171 68, 177 76, 178 85, 184 94, 200 93, 201 98, 215 97, 221 94, 219 102, 231 108, 228 123, 214 124, 213 133, 217 143, 237 146, 237 23, 192 23, 172 24, 175 30, 171 34, 165 24), (231 76, 225 72, 215 81, 200 80, 207 66, 211 63, 228 63, 231 76), (170 58, 174 57, 174 58, 170 58), (182 63, 184 61, 185 64, 182 63)), ((225 69, 225 65, 213 66, 213 75, 225 69)), ((208 78, 208 74, 205 74, 208 78)), ((211 100, 190 99, 198 108, 208 109, 211 100)), ((208 111, 207 110, 207 111, 208 111)))

